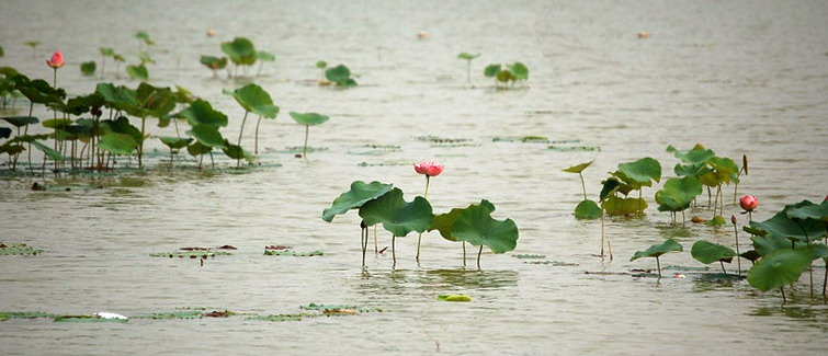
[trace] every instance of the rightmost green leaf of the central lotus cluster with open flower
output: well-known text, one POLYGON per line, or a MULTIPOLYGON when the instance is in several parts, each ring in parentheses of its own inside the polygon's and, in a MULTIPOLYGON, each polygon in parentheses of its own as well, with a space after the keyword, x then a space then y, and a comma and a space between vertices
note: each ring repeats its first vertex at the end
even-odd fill
POLYGON ((481 203, 461 213, 452 226, 452 237, 488 246, 494 253, 504 253, 518 246, 519 232, 512 219, 494 219, 489 207, 481 203))

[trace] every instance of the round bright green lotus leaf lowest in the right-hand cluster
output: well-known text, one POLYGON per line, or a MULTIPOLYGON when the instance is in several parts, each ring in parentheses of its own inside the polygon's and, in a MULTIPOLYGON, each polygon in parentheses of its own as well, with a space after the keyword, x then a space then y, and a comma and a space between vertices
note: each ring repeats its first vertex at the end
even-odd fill
POLYGON ((779 250, 764 255, 748 271, 748 283, 759 290, 781 288, 799 280, 812 262, 808 249, 779 250))

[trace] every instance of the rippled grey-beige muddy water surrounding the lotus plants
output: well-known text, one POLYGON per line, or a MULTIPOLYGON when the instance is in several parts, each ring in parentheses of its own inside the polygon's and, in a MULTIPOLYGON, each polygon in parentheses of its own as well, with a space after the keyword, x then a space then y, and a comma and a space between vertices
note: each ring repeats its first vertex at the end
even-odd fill
MULTIPOLYGON (((162 147, 152 143, 159 152, 150 154, 155 168, 146 174, 2 180, 0 240, 45 253, 0 259, 0 310, 129 315, 209 307, 276 314, 326 302, 385 312, 283 323, 10 320, 0 322, 2 353, 821 355, 828 310, 808 305, 804 283, 782 309, 776 292, 758 292, 746 282, 585 274, 653 268, 651 261, 628 257, 668 237, 688 251, 700 238, 731 244, 733 237, 728 229, 671 226, 667 214, 650 208, 643 219, 608 220, 615 259, 602 261, 593 256, 600 222, 572 218, 580 185, 560 170, 596 160, 585 171, 594 197, 619 162, 649 156, 669 173, 676 160, 663 151, 667 145, 702 142, 721 156, 750 157, 750 175, 739 188, 760 197, 756 219, 784 204, 819 199, 828 187, 826 18, 823 1, 4 1, 0 65, 50 78, 43 61, 63 49, 67 66, 58 81, 72 94, 101 81, 78 70, 99 59, 98 47, 135 62, 133 34, 146 31, 157 43, 151 82, 180 84, 209 100, 230 116, 225 135, 236 137, 242 112, 222 89, 249 80, 213 78, 197 61, 219 55, 222 41, 247 36, 276 55, 254 81, 282 114, 262 124, 262 166, 243 174, 200 172, 190 160, 170 175, 161 168, 162 147), (217 35, 205 36, 207 28, 217 35), (420 31, 428 37, 418 39, 420 31), (649 37, 638 38, 643 31, 649 37), (26 41, 42 42, 34 58, 26 41), (455 58, 460 51, 483 53, 472 83, 455 58), (361 85, 317 87, 320 59, 348 65, 361 85), (495 91, 479 74, 490 62, 515 60, 531 69, 529 88, 495 91), (311 128, 310 146, 320 150, 307 160, 284 152, 304 138, 290 111, 331 116, 311 128), (468 141, 446 147, 417 139, 428 135, 468 141), (601 150, 494 141, 528 135, 601 150), (400 149, 364 154, 372 149, 363 145, 400 149), (487 198, 497 205, 496 217, 520 227, 513 253, 577 265, 484 253, 483 271, 464 271, 460 245, 429 233, 420 265, 409 236, 398 240, 396 269, 389 253, 370 254, 368 272, 361 273, 356 215, 327 223, 321 209, 354 180, 393 182, 409 199, 421 194, 422 176, 409 165, 421 159, 446 165, 429 191, 436 211, 487 198), (75 188, 31 192, 33 181, 75 188), (276 243, 325 256, 261 255, 276 243), (239 250, 203 267, 148 256, 222 244, 239 250), (474 302, 435 301, 446 292, 474 302)), ((112 62, 105 76, 137 84, 115 78, 112 62)), ((172 128, 152 133, 174 135, 172 128)), ((248 122, 245 146, 252 140, 248 122)), ((650 203, 654 193, 645 191, 650 203)), ((725 215, 736 211, 727 206, 725 215)), ((388 244, 381 232, 381 246, 388 244)), ((701 266, 689 252, 662 260, 701 266)))

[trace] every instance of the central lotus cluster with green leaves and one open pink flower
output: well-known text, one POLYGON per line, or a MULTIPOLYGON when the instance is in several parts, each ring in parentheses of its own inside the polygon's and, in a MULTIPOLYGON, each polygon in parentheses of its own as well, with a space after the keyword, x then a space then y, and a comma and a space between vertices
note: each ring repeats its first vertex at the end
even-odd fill
MULTIPOLYGON (((392 255, 396 266, 396 239, 406 237, 410 232, 421 234, 427 231, 439 231, 440 236, 453 242, 464 243, 463 264, 465 265, 465 243, 479 246, 477 252, 477 267, 480 267, 483 248, 487 246, 494 253, 506 253, 514 250, 518 245, 518 226, 512 219, 497 220, 491 217, 495 205, 486 199, 462 208, 454 208, 444 214, 435 215, 431 203, 426 198, 428 182, 431 177, 443 172, 444 166, 433 161, 423 161, 413 165, 415 171, 426 176, 427 188, 423 196, 416 196, 413 200, 406 202, 400 188, 393 184, 363 181, 351 183, 350 191, 337 197, 331 206, 322 211, 325 221, 332 221, 337 215, 349 210, 359 210, 362 218, 362 265, 365 267, 365 253, 367 251, 367 229, 375 225, 382 225, 392 233, 392 255)), ((418 241, 419 245, 421 239, 418 241)))

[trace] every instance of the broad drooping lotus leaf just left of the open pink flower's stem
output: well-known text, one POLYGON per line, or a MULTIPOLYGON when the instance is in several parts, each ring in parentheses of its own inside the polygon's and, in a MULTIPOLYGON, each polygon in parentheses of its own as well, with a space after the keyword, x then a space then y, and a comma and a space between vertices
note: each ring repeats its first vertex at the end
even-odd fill
POLYGON ((399 188, 392 188, 383 196, 363 204, 360 217, 367 226, 382 222, 383 228, 395 237, 405 237, 411 231, 424 232, 434 219, 429 200, 417 196, 411 203, 407 203, 399 188))

